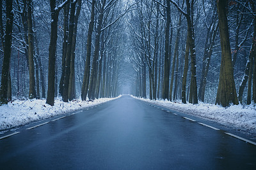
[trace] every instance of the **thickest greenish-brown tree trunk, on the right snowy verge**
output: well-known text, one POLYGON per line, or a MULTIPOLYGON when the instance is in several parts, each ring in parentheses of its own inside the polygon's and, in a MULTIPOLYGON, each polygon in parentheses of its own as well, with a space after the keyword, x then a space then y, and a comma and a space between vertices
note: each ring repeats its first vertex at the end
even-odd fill
POLYGON ((238 104, 228 34, 227 0, 217 1, 217 8, 221 39, 221 66, 216 104, 226 107, 230 103, 238 104))

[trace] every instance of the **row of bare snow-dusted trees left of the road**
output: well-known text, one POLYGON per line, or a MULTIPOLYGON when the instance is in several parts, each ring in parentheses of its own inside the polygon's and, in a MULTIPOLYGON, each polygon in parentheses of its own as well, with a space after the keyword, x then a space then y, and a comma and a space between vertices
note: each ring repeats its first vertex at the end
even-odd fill
POLYGON ((114 0, 0 3, 1 104, 13 96, 46 98, 51 105, 58 96, 64 102, 118 96, 121 18, 132 6, 114 0))

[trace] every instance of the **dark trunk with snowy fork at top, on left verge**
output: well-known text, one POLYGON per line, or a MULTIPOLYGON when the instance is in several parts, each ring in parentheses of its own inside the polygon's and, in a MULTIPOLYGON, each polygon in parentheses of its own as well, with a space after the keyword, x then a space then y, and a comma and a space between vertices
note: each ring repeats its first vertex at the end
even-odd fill
POLYGON ((50 1, 51 6, 51 39, 49 45, 49 66, 48 66, 48 90, 46 103, 54 105, 54 80, 55 80, 55 62, 56 62, 56 45, 58 38, 58 18, 61 8, 68 3, 66 0, 61 6, 56 7, 56 0, 50 1))

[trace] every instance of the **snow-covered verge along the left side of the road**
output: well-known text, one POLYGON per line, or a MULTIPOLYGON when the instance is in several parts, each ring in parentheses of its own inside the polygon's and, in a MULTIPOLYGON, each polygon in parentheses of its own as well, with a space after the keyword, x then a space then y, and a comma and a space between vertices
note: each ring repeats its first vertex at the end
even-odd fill
POLYGON ((12 103, 0 106, 0 130, 54 117, 64 114, 67 111, 89 108, 116 98, 95 99, 93 102, 74 100, 69 103, 63 103, 60 99, 56 99, 54 106, 45 104, 45 100, 40 99, 28 99, 26 101, 15 100, 12 103))

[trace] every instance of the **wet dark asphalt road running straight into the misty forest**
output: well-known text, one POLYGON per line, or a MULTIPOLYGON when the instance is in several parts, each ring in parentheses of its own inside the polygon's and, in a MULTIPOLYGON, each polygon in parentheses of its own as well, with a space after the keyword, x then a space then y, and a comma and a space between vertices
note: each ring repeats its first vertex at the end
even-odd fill
POLYGON ((256 169, 255 145, 129 96, 57 118, 1 139, 0 169, 256 169))

